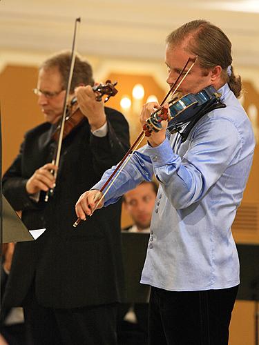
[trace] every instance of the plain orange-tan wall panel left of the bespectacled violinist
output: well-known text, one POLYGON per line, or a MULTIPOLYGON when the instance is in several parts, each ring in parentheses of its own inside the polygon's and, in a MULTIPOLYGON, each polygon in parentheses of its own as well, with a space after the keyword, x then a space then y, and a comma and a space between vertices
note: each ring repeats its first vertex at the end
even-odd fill
POLYGON ((0 74, 3 171, 19 152, 26 130, 43 121, 32 88, 37 86, 37 68, 6 66, 0 74))

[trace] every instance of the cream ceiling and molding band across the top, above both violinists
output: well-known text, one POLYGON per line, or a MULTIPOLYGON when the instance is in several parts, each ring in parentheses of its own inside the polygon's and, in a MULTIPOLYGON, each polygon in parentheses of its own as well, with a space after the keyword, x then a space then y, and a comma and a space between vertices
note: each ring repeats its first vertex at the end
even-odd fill
POLYGON ((0 55, 14 52, 11 59, 15 52, 24 57, 27 52, 33 60, 69 49, 76 17, 81 17, 77 49, 82 55, 161 62, 166 35, 204 18, 231 39, 234 65, 259 68, 259 0, 3 0, 0 55))

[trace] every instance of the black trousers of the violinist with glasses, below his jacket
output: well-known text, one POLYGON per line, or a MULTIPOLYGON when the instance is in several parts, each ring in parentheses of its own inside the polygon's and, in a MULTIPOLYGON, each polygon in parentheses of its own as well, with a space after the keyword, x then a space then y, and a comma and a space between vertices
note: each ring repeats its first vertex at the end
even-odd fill
POLYGON ((28 345, 116 345, 117 304, 54 309, 27 298, 28 345))

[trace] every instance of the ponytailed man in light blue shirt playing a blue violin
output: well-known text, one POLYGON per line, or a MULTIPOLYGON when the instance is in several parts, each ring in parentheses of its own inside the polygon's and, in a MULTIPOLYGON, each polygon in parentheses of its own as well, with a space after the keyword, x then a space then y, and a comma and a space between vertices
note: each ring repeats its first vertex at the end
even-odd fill
MULTIPOLYGON (((162 130, 131 155, 98 206, 114 203, 153 175, 160 182, 141 279, 151 285, 151 345, 227 345, 240 284, 231 225, 251 169, 253 130, 238 101, 242 84, 226 34, 204 20, 171 32, 166 38, 170 86, 189 57, 198 59, 180 85, 182 95, 213 86, 225 108, 200 117, 184 140, 162 121, 162 130)), ((144 105, 142 125, 158 107, 144 105)), ((79 197, 80 219, 95 210, 95 195, 113 170, 79 197)))

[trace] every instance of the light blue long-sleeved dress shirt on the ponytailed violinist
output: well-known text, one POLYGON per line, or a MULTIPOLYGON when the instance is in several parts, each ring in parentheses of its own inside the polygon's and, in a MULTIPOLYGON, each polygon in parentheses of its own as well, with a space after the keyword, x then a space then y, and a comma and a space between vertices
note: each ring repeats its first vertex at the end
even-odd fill
MULTIPOLYGON (((135 152, 105 197, 111 204, 153 174, 160 181, 141 282, 173 291, 240 283, 231 225, 247 184, 255 146, 251 123, 225 84, 226 108, 213 110, 182 143, 170 135, 135 152)), ((100 189, 107 170, 93 188, 100 189)))

